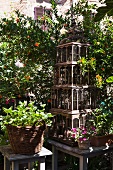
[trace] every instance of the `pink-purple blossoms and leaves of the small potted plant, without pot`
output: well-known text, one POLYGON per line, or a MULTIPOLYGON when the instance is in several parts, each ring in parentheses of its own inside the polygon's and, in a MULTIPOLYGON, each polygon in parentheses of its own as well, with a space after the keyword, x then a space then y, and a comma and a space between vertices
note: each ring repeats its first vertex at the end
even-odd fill
POLYGON ((86 141, 89 138, 96 134, 96 129, 94 126, 85 127, 81 126, 79 128, 72 128, 71 137, 75 139, 75 141, 86 141))

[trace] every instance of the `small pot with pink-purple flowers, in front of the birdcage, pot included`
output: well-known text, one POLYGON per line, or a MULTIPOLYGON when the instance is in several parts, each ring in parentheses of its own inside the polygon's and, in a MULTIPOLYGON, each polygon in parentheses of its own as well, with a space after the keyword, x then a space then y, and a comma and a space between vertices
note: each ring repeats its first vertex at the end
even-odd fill
POLYGON ((95 127, 81 126, 79 128, 72 128, 71 136, 78 142, 80 149, 88 149, 90 146, 90 137, 95 134, 95 127))

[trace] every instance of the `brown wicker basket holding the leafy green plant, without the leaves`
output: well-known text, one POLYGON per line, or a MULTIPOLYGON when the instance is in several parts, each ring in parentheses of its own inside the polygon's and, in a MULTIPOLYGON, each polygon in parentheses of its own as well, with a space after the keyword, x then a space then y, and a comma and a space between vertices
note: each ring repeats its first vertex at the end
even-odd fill
POLYGON ((7 125, 6 127, 14 153, 29 155, 38 153, 42 149, 45 124, 26 127, 7 125))

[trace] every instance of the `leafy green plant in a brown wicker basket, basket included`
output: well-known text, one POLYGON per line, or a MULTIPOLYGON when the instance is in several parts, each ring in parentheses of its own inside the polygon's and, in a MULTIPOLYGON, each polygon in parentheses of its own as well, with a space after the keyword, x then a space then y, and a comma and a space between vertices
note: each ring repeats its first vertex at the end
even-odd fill
POLYGON ((33 154, 41 150, 44 142, 44 130, 51 125, 51 113, 45 113, 45 104, 40 108, 34 102, 19 102, 14 109, 3 108, 0 116, 1 129, 8 139, 14 153, 33 154))

